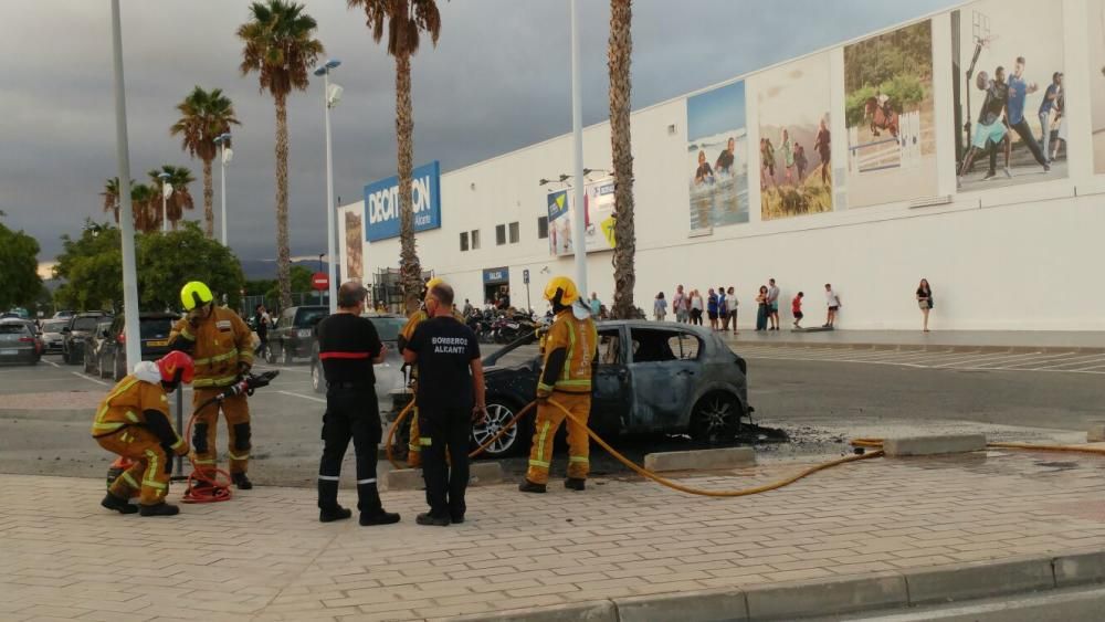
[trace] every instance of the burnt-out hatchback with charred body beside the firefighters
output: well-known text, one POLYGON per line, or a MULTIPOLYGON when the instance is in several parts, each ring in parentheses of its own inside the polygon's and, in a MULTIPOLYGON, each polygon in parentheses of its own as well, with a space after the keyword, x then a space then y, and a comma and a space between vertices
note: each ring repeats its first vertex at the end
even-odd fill
MULTIPOLYGON (((690 434, 697 441, 732 440, 749 419, 747 365, 709 329, 643 320, 599 323, 590 426, 603 436, 620 433, 690 434)), ((537 392, 541 357, 499 365, 527 336, 483 359, 487 420, 472 430, 472 444, 492 437, 537 392)), ((749 419, 750 421, 750 419, 749 419)), ((534 413, 503 435, 488 457, 528 451, 534 413)))

